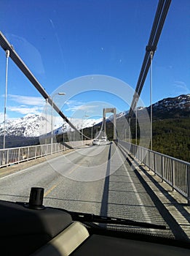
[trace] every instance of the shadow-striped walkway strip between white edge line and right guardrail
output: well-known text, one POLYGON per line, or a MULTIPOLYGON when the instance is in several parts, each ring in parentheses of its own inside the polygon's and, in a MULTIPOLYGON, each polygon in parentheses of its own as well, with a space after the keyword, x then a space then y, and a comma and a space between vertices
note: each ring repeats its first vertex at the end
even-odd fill
MULTIPOLYGON (((154 175, 147 167, 127 155, 124 148, 121 151, 126 157, 125 168, 130 173, 151 222, 160 222, 160 215, 170 227, 175 238, 190 239, 190 206, 187 205, 186 198, 154 175)), ((139 216, 139 213, 137 214, 139 216)))

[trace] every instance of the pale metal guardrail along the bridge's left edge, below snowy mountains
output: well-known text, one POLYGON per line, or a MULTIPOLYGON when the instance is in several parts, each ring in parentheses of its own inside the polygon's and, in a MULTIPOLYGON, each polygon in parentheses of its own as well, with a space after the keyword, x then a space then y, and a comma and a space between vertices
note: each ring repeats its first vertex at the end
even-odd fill
POLYGON ((69 148, 76 148, 84 144, 90 143, 91 140, 79 140, 69 141, 63 145, 63 143, 53 143, 37 145, 37 146, 25 146, 21 148, 6 148, 0 149, 0 167, 13 165, 16 163, 28 161, 30 159, 36 159, 38 157, 44 157, 48 154, 58 153, 60 151, 66 151, 69 148))

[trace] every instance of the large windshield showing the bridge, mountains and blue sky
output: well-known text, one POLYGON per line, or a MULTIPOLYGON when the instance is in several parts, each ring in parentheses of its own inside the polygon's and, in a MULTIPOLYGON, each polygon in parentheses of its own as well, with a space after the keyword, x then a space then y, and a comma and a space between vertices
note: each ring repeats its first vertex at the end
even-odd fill
POLYGON ((1 200, 189 241, 190 2, 163 2, 0 2, 1 200))

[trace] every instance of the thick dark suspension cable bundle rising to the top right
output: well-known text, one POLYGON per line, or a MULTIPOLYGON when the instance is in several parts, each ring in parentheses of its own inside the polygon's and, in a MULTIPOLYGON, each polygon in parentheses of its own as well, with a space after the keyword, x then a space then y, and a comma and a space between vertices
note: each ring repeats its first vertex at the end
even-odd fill
POLYGON ((135 88, 135 93, 132 98, 132 103, 130 105, 130 111, 127 116, 129 120, 132 117, 132 114, 135 112, 135 108, 138 103, 138 99, 140 97, 140 93, 143 89, 144 82, 146 80, 146 76, 149 72, 149 67, 151 65, 151 60, 154 56, 155 51, 157 50, 157 43, 159 41, 160 34, 162 32, 162 28, 165 23, 165 19, 167 16, 167 12, 170 7, 171 0, 159 0, 157 12, 154 17, 154 23, 151 29, 151 34, 149 37, 148 45, 146 46, 146 53, 143 59, 143 64, 140 69, 140 75, 138 78, 138 83, 135 88), (151 54, 150 54, 151 53, 151 54))

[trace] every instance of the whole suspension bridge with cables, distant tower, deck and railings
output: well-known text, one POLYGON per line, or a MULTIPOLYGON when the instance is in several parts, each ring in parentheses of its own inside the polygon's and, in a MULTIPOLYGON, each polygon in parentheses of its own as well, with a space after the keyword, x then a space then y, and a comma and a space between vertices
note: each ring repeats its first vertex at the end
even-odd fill
MULTIPOLYGON (((157 43, 169 7, 170 1, 159 1, 127 116, 129 124, 130 118, 135 115, 138 99, 157 50, 157 43)), ((92 138, 77 129, 60 110, 2 33, 0 33, 0 45, 6 53, 7 67, 10 57, 44 97, 46 103, 74 131, 82 138, 86 138, 85 143, 79 140, 1 149, 0 167, 3 170, 3 174, 0 172, 1 199, 25 200, 25 197, 28 197, 28 187, 33 187, 35 184, 36 187, 45 187, 47 205, 53 200, 56 207, 68 207, 71 211, 76 208, 81 208, 82 211, 85 208, 89 212, 116 217, 121 215, 129 219, 135 214, 137 220, 143 219, 147 222, 156 220, 157 224, 164 224, 168 227, 167 232, 170 236, 177 237, 180 234, 180 237, 183 236, 188 240, 190 237, 188 206, 190 203, 190 164, 159 154, 149 148, 119 140, 116 136, 115 118, 114 140, 99 147, 92 146, 92 138), (63 155, 66 151, 69 153, 63 155), (40 157, 44 157, 47 161, 36 165, 35 160, 40 157), (15 171, 15 165, 21 166, 33 159, 33 166, 26 165, 22 170, 15 171), (11 168, 14 171, 11 171, 11 168), (9 171, 9 175, 6 171, 9 171), (76 187, 77 181, 82 181, 81 187, 78 187, 79 191, 76 187), (94 181, 94 184, 83 183, 83 181, 94 181), (10 182, 11 187, 9 187, 10 182), (72 193, 70 193, 71 188, 72 193)), ((6 111, 6 107, 4 109, 6 111)), ((100 131, 106 132, 107 112, 114 113, 115 116, 114 109, 105 108, 100 131)), ((150 118, 152 121, 152 116, 150 118)))

